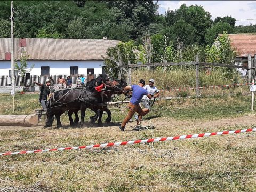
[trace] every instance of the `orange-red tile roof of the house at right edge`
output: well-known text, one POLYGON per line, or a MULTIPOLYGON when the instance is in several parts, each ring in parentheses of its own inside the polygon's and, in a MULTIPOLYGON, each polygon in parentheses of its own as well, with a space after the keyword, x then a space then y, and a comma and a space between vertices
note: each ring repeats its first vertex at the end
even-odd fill
MULTIPOLYGON (((221 36, 222 34, 218 34, 221 36)), ((228 34, 231 47, 238 53, 238 57, 247 57, 256 54, 256 35, 252 34, 228 34)))

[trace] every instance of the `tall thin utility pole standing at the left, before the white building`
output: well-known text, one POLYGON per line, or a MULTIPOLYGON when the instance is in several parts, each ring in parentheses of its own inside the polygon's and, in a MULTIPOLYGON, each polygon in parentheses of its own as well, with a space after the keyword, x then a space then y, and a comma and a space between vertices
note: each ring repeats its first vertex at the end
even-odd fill
POLYGON ((14 74, 14 37, 13 37, 13 1, 11 1, 11 70, 12 70, 12 112, 14 112, 15 105, 14 105, 14 95, 15 95, 15 74, 14 74))

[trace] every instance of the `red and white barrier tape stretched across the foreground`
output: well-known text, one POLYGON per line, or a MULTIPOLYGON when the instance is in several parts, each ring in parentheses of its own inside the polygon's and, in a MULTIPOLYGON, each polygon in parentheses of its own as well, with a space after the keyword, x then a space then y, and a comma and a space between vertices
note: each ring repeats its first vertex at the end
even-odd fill
POLYGON ((225 134, 233 134, 233 133, 245 133, 245 132, 253 132, 256 131, 256 128, 243 129, 243 130, 233 130, 233 131, 220 131, 213 133, 201 133, 201 134, 193 134, 193 135, 182 135, 175 137, 163 137, 163 138, 152 138, 152 139, 143 139, 143 140, 135 140, 135 141, 123 141, 123 142, 111 142, 105 144, 96 144, 89 146, 79 146, 79 147, 65 147, 65 148, 55 148, 55 149, 39 149, 39 150, 31 150, 31 151, 20 151, 20 152, 6 152, 0 153, 1 155, 14 155, 14 154, 27 154, 27 153, 39 153, 39 152, 48 152, 48 151, 63 151, 63 150, 71 150, 71 149, 90 149, 97 147, 111 147, 111 146, 120 146, 120 145, 131 145, 131 144, 141 144, 141 143, 150 143, 150 142, 158 142, 158 141, 171 141, 171 140, 179 140, 179 139, 190 139, 190 138, 201 138, 201 137, 210 137, 214 135, 225 135, 225 134))

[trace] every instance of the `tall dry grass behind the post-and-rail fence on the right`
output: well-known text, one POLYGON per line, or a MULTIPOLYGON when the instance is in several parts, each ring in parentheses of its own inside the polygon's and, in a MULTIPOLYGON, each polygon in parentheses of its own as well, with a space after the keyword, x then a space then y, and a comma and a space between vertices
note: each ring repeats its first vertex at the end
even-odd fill
MULTIPOLYGON (((156 70, 139 68, 132 70, 132 84, 137 84, 140 79, 154 78, 159 89, 175 89, 180 87, 196 87, 196 69, 179 67, 172 70, 163 70, 158 67, 156 70)), ((242 78, 236 71, 232 78, 226 78, 220 68, 212 68, 207 74, 204 69, 199 71, 199 86, 230 85, 233 83, 243 83, 242 78), (234 81, 236 79, 236 81, 234 81)))

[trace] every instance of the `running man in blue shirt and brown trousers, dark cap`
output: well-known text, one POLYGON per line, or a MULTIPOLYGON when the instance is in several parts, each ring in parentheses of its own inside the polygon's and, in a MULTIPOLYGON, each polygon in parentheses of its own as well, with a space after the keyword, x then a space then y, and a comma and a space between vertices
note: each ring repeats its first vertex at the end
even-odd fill
POLYGON ((145 81, 143 79, 140 79, 139 85, 132 85, 132 86, 126 86, 124 90, 132 90, 132 98, 128 104, 128 115, 124 118, 124 121, 122 122, 121 126, 119 128, 121 131, 124 131, 125 125, 129 120, 132 118, 135 112, 139 114, 137 126, 135 129, 139 129, 140 123, 141 123, 141 117, 143 114, 143 110, 140 107, 140 102, 143 97, 143 95, 147 95, 148 98, 152 98, 152 95, 148 93, 146 89, 143 89, 143 86, 145 85, 145 81))

